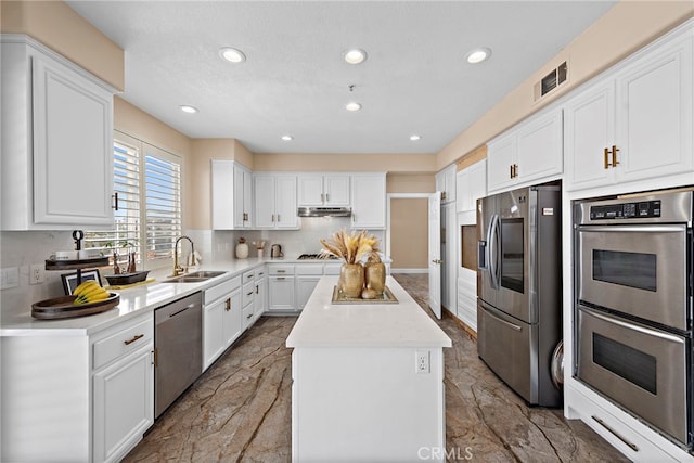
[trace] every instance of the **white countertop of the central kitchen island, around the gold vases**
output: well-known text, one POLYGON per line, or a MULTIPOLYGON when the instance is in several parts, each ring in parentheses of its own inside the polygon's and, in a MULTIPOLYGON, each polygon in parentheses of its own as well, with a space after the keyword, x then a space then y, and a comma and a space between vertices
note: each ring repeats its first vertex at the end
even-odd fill
POLYGON ((398 304, 332 304, 337 276, 322 276, 287 347, 451 347, 451 339, 398 284, 386 279, 398 304))

